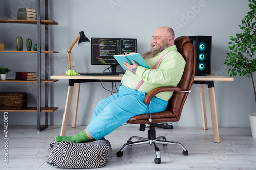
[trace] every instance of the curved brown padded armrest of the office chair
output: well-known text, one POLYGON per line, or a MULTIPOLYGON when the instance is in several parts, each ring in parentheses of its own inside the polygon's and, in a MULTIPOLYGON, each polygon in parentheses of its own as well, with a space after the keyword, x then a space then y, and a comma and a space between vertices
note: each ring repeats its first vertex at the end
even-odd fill
POLYGON ((175 92, 180 92, 180 88, 179 87, 173 87, 173 86, 169 86, 169 87, 158 87, 155 88, 153 90, 151 90, 150 92, 148 92, 144 98, 144 102, 146 104, 150 104, 151 99, 158 93, 161 92, 165 92, 165 91, 175 91, 175 92))

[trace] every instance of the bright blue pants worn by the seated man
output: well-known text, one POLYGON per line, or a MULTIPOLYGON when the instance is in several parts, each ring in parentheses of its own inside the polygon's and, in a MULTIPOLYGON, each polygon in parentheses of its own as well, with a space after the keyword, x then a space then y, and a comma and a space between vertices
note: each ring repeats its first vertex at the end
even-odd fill
MULTIPOLYGON (((148 113, 148 104, 144 103, 146 93, 136 91, 120 84, 118 93, 98 102, 90 124, 89 134, 99 140, 127 122, 131 117, 148 113)), ((154 97, 151 100, 151 113, 164 111, 168 101, 154 97)))

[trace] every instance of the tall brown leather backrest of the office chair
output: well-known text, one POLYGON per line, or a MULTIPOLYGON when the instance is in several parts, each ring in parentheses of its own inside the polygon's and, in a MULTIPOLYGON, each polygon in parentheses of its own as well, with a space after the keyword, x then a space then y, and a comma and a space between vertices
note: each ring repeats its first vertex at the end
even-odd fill
MULTIPOLYGON (((195 70, 196 70, 196 51, 187 36, 181 36, 174 40, 177 51, 183 56, 186 61, 185 69, 177 87, 183 91, 189 91, 193 85, 195 70)), ((166 110, 171 111, 179 120, 182 108, 187 98, 187 92, 174 92, 166 110)))

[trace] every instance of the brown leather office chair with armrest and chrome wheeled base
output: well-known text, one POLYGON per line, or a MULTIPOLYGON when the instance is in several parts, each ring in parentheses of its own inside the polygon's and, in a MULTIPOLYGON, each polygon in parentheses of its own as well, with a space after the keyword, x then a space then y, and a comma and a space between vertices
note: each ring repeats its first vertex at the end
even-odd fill
POLYGON ((174 91, 172 98, 169 100, 168 106, 165 111, 158 113, 148 113, 132 117, 128 123, 130 124, 140 124, 140 130, 145 130, 145 124, 150 124, 148 130, 148 137, 138 137, 132 136, 129 138, 126 144, 116 153, 118 157, 123 155, 123 150, 129 145, 138 145, 138 144, 150 144, 153 145, 155 149, 156 158, 155 163, 161 163, 160 150, 157 147, 156 143, 163 145, 167 144, 176 144, 180 145, 183 148, 183 155, 188 155, 186 148, 178 142, 167 141, 164 136, 156 137, 155 125, 156 123, 166 123, 166 122, 177 122, 180 119, 181 111, 186 101, 187 95, 190 92, 192 87, 195 69, 196 69, 196 52, 195 47, 190 42, 190 39, 187 36, 181 36, 176 38, 175 45, 178 52, 184 57, 186 61, 185 69, 181 78, 180 83, 177 87, 159 87, 148 92, 145 96, 144 102, 150 104, 150 100, 157 94, 163 91, 174 91), (139 141, 132 142, 132 139, 135 138, 139 141), (162 139, 162 140, 161 140, 162 139))

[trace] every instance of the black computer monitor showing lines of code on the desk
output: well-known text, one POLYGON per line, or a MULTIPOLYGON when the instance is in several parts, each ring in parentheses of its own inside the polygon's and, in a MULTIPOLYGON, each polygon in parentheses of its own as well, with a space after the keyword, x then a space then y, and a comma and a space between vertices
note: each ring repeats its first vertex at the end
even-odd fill
POLYGON ((137 53, 136 38, 91 38, 92 65, 110 65, 115 74, 119 63, 113 55, 125 53, 137 53))

